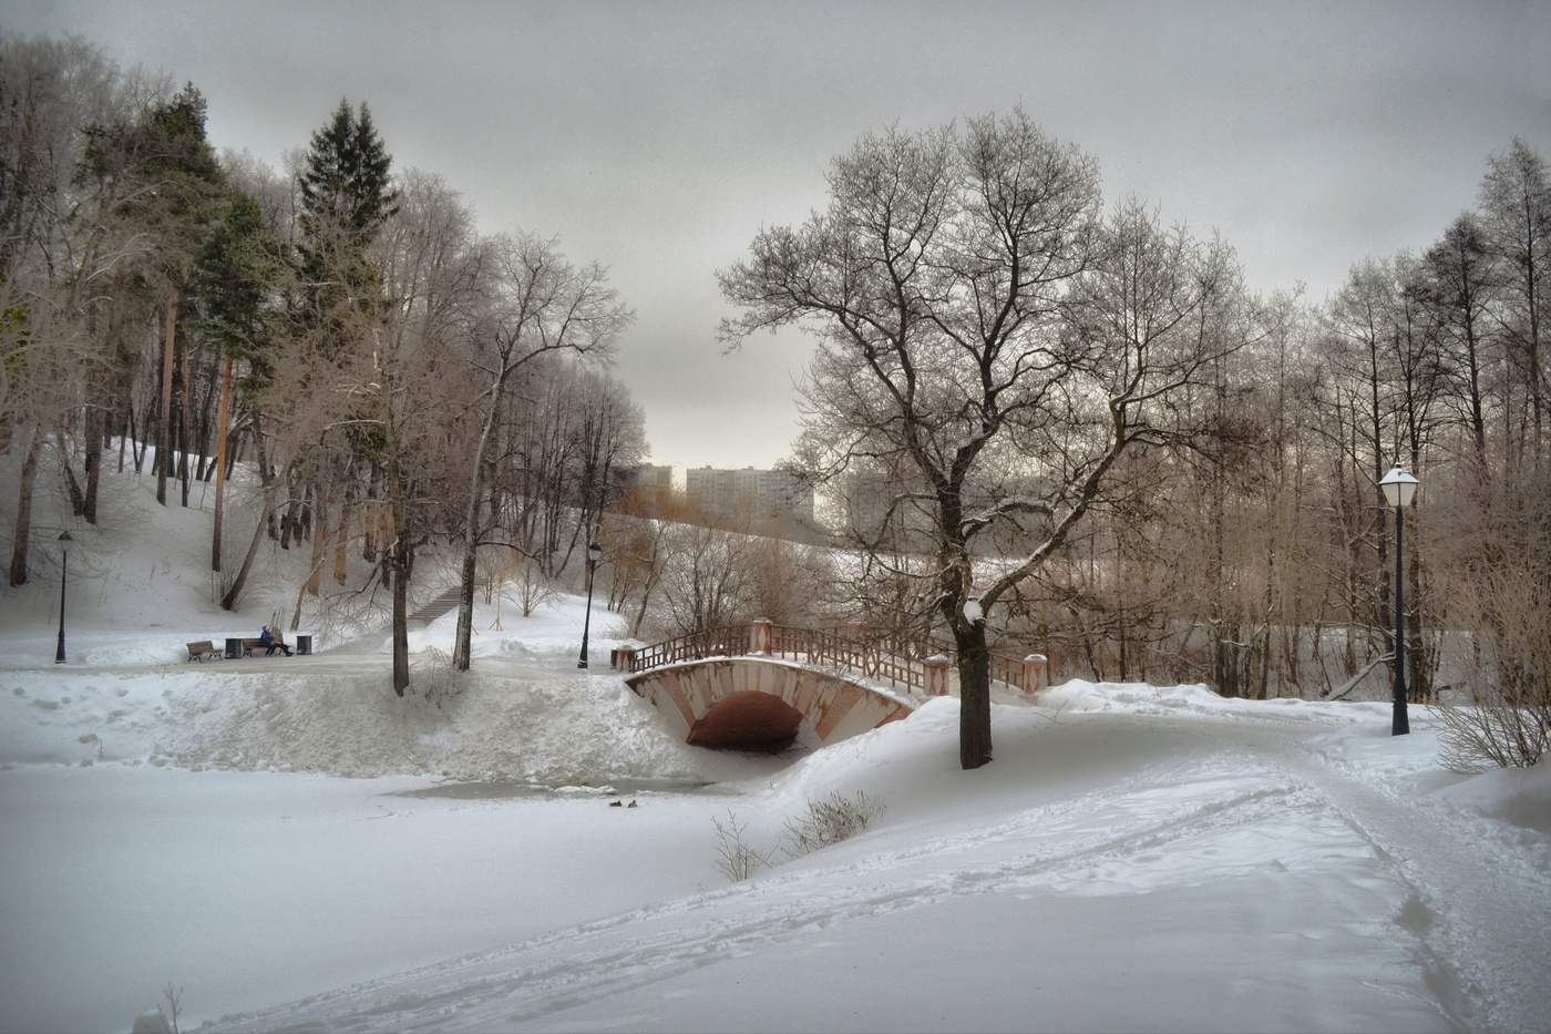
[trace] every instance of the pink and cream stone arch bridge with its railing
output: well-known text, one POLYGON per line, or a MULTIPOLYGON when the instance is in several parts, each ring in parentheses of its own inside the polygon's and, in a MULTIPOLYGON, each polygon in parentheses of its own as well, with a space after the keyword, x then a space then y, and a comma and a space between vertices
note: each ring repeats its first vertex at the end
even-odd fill
MULTIPOLYGON (((927 697, 957 691, 951 661, 869 641, 859 624, 793 629, 755 621, 642 647, 619 647, 625 683, 686 742, 771 747, 807 722, 833 744, 909 717, 927 697)), ((1045 658, 993 655, 991 682, 1017 692, 1045 685, 1045 658)))

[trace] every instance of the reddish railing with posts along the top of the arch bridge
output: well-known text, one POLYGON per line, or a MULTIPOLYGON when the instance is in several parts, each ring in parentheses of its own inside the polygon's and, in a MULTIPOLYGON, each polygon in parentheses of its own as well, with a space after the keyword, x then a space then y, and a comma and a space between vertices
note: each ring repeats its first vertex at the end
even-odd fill
MULTIPOLYGON (((867 637, 858 626, 847 629, 800 629, 755 621, 731 629, 709 629, 679 635, 651 646, 619 651, 627 672, 704 660, 707 657, 782 657, 813 668, 850 671, 887 682, 896 689, 940 696, 948 692, 946 651, 927 643, 896 643, 867 637), (924 651, 935 649, 932 655, 924 651)), ((1045 658, 991 654, 990 677, 1016 691, 1042 689, 1045 658)))

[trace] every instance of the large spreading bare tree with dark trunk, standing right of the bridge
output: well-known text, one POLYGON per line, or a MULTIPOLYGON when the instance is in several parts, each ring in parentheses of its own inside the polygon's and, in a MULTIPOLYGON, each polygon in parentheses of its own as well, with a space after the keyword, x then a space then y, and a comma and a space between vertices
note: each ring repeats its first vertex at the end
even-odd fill
POLYGON ((977 769, 991 761, 986 615, 1067 540, 1128 447, 1163 439, 1169 396, 1231 348, 1211 317, 1235 269, 1142 205, 1106 220, 1097 163, 1021 110, 864 137, 828 186, 825 211, 763 230, 720 273, 743 309, 723 338, 819 338, 799 463, 831 481, 883 467, 884 509, 929 528, 912 574, 952 637, 960 764, 977 769), (1035 545, 988 556, 1010 526, 1035 545))

